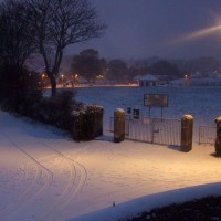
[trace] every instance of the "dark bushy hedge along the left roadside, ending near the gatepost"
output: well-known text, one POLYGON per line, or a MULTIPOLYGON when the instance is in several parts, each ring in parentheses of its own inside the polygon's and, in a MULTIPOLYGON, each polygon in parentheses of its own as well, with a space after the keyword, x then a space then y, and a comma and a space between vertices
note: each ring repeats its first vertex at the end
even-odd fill
POLYGON ((1 103, 1 108, 69 131, 75 140, 91 140, 103 134, 103 108, 74 101, 73 91, 43 97, 41 91, 18 93, 1 103))

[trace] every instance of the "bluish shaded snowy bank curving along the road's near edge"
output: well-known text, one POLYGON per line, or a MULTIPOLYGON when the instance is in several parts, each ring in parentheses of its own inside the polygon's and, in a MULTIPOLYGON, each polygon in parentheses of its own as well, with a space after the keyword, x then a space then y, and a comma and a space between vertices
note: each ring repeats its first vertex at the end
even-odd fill
POLYGON ((118 221, 135 217, 154 208, 165 207, 171 203, 199 199, 208 196, 218 196, 221 192, 221 183, 201 185, 190 188, 181 188, 156 194, 146 196, 125 203, 117 204, 93 213, 84 214, 69 221, 118 221))

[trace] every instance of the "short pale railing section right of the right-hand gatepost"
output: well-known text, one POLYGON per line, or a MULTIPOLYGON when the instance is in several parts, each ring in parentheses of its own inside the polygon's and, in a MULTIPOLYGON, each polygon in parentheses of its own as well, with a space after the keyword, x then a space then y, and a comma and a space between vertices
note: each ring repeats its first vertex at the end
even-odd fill
POLYGON ((213 125, 199 126, 199 144, 214 145, 217 127, 213 125))

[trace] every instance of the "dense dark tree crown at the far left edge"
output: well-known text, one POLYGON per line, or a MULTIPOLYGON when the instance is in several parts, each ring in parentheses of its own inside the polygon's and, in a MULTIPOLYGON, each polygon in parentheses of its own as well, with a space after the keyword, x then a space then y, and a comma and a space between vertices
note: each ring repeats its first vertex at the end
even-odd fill
POLYGON ((27 59, 36 50, 30 12, 24 4, 8 0, 0 4, 0 59, 21 74, 27 59))

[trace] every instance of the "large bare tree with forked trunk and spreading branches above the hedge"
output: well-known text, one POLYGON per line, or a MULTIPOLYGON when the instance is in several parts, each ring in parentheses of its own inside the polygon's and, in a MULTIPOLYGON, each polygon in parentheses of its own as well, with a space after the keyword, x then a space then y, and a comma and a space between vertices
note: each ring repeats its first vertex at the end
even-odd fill
POLYGON ((25 0, 31 10, 39 52, 56 93, 56 75, 67 45, 99 36, 105 24, 87 0, 25 0))

